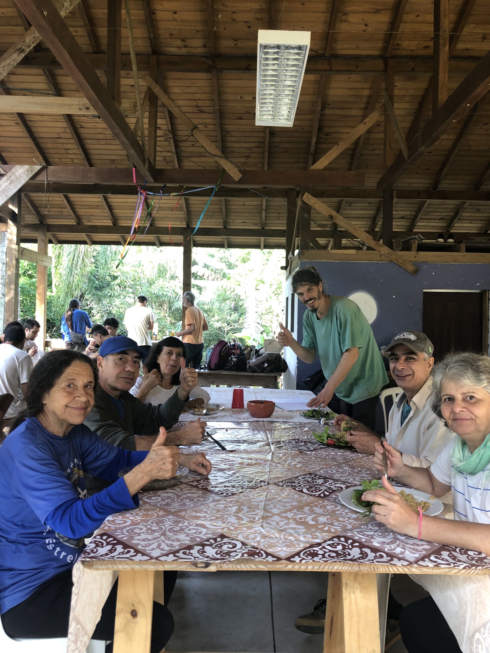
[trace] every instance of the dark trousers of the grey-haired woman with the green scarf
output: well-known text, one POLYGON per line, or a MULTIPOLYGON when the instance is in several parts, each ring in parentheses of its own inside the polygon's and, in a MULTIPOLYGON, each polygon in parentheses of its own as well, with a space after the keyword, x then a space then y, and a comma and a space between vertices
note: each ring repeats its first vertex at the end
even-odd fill
POLYGON ((408 653, 462 653, 453 631, 431 596, 402 609, 400 633, 408 653))

